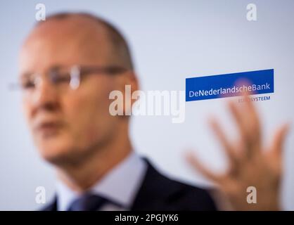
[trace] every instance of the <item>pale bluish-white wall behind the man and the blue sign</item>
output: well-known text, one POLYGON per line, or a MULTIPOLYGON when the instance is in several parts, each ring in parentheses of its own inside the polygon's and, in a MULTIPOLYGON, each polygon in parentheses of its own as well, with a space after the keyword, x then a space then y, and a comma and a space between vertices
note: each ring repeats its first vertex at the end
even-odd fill
MULTIPOLYGON (((53 169, 39 158, 20 107, 20 94, 8 84, 18 75, 18 49, 35 23, 35 5, 46 12, 89 11, 120 27, 132 46, 143 90, 184 90, 185 78, 274 68, 275 94, 259 102, 264 138, 284 121, 294 120, 294 1, 0 1, 0 210, 34 210, 35 188, 54 193, 53 169), (257 21, 246 20, 246 6, 257 5, 257 21)), ((224 167, 224 155, 210 129, 207 115, 234 127, 224 99, 186 103, 186 120, 134 117, 132 139, 165 173, 193 184, 209 185, 191 172, 184 149, 214 169, 224 167)), ((282 199, 294 210, 294 132, 285 149, 282 199)))

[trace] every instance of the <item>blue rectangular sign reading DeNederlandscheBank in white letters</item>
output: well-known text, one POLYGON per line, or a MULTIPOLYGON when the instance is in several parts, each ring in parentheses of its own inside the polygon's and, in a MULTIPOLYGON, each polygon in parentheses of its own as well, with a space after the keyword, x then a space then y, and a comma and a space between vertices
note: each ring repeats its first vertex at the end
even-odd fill
POLYGON ((186 101, 274 93, 274 69, 186 78, 186 101))

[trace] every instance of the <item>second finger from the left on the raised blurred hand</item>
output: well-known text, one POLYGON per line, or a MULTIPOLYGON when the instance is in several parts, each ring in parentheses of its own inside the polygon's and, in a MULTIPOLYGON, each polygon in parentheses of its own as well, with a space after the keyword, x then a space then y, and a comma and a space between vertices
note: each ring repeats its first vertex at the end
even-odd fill
POLYGON ((226 138, 224 131, 219 126, 219 123, 214 119, 210 119, 210 127, 215 132, 219 142, 222 144, 224 151, 226 152, 226 156, 229 158, 231 167, 235 167, 238 164, 238 158, 236 156, 236 151, 234 150, 229 140, 226 138))

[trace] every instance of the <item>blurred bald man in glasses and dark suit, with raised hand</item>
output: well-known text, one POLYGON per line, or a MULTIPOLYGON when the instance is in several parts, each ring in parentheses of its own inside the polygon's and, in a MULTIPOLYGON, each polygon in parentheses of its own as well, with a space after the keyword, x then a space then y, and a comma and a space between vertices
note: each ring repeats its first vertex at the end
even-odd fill
MULTIPOLYGON (((140 158, 129 139, 129 117, 110 115, 110 91, 139 85, 127 43, 109 23, 60 13, 37 24, 20 52, 20 83, 34 143, 58 176, 56 198, 45 210, 216 210, 208 191, 168 179, 140 158)), ((217 182, 233 209, 278 210, 287 126, 264 153, 253 105, 230 107, 241 131, 238 146, 212 122, 229 171, 212 174, 195 157, 189 160, 217 182), (254 207, 246 203, 248 186, 259 191, 254 207)))

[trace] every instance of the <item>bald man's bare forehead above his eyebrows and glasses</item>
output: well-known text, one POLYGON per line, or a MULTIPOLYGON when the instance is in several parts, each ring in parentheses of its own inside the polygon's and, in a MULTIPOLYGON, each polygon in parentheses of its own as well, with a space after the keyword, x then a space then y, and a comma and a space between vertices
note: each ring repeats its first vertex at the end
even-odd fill
MULTIPOLYGON (((51 19, 40 23, 27 37, 23 49, 25 57, 39 54, 62 53, 66 56, 72 52, 96 58, 105 56, 108 51, 108 35, 106 29, 96 21, 81 15, 71 15, 68 18, 51 19), (35 53, 35 54, 34 54, 35 53)), ((22 53, 20 54, 20 57, 22 53)), ((61 56, 60 56, 61 57, 61 56)))

